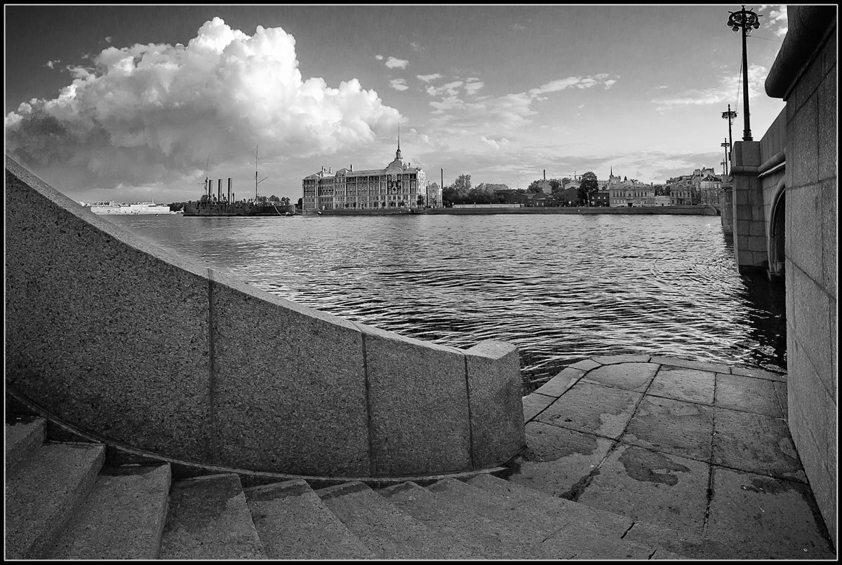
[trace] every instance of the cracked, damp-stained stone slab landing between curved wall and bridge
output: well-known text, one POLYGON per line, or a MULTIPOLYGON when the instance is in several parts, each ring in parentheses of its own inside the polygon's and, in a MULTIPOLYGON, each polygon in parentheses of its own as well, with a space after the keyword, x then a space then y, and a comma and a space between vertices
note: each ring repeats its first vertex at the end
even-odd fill
POLYGON ((786 425, 786 375, 594 357, 524 398, 510 481, 634 521, 685 557, 834 559, 786 425))

